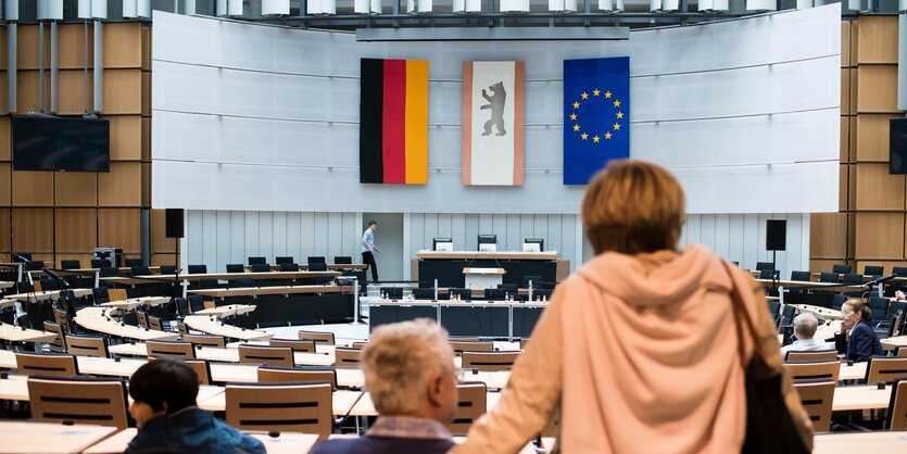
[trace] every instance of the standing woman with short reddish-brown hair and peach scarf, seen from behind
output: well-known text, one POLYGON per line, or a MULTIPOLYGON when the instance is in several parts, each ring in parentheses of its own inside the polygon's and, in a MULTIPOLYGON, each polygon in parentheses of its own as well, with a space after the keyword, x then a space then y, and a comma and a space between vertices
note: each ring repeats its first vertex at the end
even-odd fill
MULTIPOLYGON (((701 245, 677 250, 683 191, 664 168, 613 162, 582 220, 595 253, 557 287, 497 407, 454 453, 516 453, 560 408, 558 444, 581 453, 733 453, 746 432, 733 286, 769 366, 781 368, 761 289, 701 245)), ((744 336, 745 356, 754 351, 744 336)), ((804 440, 809 419, 785 376, 804 440)))

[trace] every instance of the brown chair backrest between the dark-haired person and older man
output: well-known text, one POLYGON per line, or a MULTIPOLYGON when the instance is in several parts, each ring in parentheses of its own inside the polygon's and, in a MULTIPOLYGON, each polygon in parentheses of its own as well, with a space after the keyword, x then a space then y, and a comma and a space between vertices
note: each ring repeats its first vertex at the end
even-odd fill
POLYGON ((228 384, 227 424, 240 430, 315 433, 333 430, 330 383, 228 384))

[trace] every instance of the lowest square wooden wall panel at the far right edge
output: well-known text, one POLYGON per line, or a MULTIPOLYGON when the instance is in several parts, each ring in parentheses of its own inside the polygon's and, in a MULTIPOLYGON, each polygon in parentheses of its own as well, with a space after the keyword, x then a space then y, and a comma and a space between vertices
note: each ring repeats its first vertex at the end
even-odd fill
POLYGON ((904 258, 904 213, 856 213, 856 257, 904 258))

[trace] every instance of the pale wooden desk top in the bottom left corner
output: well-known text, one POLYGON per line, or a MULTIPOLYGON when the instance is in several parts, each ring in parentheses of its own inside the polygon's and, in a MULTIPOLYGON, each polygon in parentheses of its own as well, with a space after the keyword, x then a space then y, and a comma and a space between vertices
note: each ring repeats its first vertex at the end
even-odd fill
POLYGON ((0 453, 64 454, 86 447, 116 432, 115 427, 60 423, 0 421, 0 453))

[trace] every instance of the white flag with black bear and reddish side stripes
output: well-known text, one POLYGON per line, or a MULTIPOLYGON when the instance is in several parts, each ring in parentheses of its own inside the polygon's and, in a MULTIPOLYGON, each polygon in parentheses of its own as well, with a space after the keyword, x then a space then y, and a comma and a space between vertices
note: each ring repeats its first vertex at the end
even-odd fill
POLYGON ((524 62, 463 63, 463 184, 522 185, 524 62))

